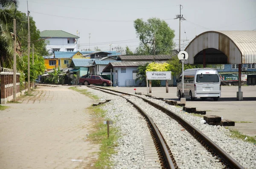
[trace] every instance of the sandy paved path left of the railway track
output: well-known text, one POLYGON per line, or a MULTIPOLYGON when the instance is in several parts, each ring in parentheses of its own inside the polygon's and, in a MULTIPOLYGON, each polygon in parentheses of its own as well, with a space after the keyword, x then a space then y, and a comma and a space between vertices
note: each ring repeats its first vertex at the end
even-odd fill
POLYGON ((38 86, 0 111, 1 169, 90 168, 99 145, 86 140, 93 101, 68 86, 38 86))

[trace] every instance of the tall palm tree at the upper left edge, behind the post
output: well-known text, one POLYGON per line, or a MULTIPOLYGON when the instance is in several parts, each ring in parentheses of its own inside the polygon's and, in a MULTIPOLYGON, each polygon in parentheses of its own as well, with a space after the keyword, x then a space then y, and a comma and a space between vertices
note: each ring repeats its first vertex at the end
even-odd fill
POLYGON ((13 24, 13 18, 17 9, 17 0, 0 1, 0 66, 11 68, 13 59, 12 33, 9 26, 13 24))

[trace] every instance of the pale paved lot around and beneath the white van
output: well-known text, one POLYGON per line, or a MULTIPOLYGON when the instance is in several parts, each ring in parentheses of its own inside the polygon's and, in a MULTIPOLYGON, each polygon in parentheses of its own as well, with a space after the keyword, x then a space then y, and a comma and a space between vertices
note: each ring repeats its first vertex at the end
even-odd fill
MULTIPOLYGON (((113 87, 114 90, 134 93, 142 92, 147 94, 145 87, 113 87)), ((238 129, 245 135, 256 137, 256 86, 242 86, 244 100, 236 100, 238 86, 221 86, 221 98, 218 101, 213 99, 195 101, 186 100, 186 106, 196 107, 197 110, 206 110, 207 115, 223 116, 224 119, 234 121, 246 121, 253 123, 236 123, 231 129, 238 129)), ((153 97, 163 97, 165 99, 178 100, 176 96, 177 88, 169 87, 169 93, 166 93, 166 87, 153 87, 151 95, 153 97)))

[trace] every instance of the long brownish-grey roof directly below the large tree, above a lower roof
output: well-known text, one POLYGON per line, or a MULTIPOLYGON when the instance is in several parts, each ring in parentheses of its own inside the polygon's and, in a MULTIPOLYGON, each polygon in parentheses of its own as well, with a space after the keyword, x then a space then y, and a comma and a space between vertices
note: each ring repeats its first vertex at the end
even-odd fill
POLYGON ((169 60, 172 58, 171 55, 121 55, 121 60, 169 60))

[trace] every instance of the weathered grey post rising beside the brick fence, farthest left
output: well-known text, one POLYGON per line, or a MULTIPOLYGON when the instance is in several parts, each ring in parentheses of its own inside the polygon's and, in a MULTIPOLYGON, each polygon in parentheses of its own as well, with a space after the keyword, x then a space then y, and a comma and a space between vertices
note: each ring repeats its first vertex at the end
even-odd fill
POLYGON ((16 101, 16 90, 17 90, 17 77, 16 77, 16 20, 13 19, 13 35, 14 35, 14 42, 13 42, 13 94, 12 98, 13 101, 16 101))

